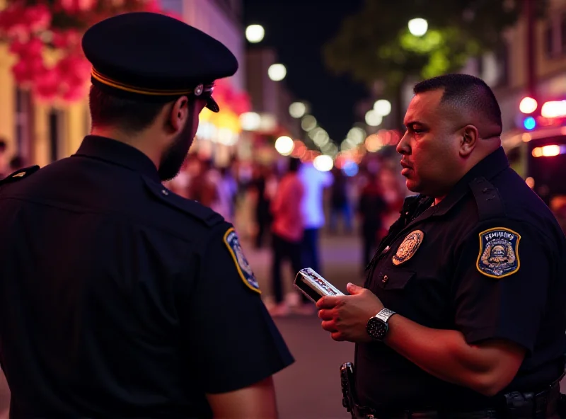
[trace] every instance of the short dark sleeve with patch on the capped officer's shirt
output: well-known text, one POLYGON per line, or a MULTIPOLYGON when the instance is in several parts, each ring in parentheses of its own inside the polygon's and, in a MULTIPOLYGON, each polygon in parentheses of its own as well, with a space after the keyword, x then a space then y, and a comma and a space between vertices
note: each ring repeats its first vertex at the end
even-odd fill
POLYGON ((260 298, 236 231, 217 231, 200 261, 183 333, 205 393, 242 389, 294 362, 260 298))

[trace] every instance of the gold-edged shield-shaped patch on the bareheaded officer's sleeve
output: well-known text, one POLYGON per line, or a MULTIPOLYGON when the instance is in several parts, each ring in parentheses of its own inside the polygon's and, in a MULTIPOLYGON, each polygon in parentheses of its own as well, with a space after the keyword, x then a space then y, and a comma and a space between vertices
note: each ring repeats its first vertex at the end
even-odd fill
POLYGON ((491 278, 513 275, 521 267, 519 241, 521 236, 513 230, 495 227, 480 233, 480 253, 475 263, 478 271, 491 278))

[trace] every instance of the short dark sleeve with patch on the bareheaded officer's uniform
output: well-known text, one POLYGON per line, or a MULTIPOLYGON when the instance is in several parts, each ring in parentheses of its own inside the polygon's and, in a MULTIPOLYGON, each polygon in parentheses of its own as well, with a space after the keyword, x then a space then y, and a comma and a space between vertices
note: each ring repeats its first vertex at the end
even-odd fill
POLYGON ((552 249, 524 222, 493 221, 456 248, 456 328, 468 343, 510 340, 533 350, 553 275, 552 249))

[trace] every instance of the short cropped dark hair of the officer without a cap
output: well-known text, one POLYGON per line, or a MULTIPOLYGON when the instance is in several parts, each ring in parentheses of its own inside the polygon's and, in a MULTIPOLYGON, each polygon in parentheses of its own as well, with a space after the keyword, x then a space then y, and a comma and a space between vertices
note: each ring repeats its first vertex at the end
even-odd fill
MULTIPOLYGON (((454 103, 497 125, 501 130, 501 109, 497 98, 485 81, 470 74, 444 74, 415 85, 415 94, 444 89, 441 103, 454 103)), ((501 132, 499 132, 501 134, 501 132)))

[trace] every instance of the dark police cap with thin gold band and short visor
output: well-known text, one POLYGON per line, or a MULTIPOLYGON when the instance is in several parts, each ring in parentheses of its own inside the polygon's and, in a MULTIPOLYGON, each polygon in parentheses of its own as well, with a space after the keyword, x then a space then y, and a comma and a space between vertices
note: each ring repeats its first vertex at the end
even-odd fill
POLYGON ((158 13, 125 13, 96 23, 83 36, 91 81, 115 96, 141 101, 212 98, 214 80, 232 76, 238 61, 218 40, 158 13))

